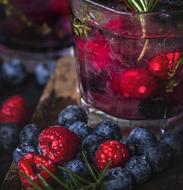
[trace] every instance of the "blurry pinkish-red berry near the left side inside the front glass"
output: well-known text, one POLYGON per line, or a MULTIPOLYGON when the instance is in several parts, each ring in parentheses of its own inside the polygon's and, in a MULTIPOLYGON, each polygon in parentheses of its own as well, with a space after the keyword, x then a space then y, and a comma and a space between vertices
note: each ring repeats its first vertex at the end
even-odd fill
POLYGON ((105 70, 111 64, 109 43, 101 35, 89 39, 86 44, 86 56, 96 72, 105 70))

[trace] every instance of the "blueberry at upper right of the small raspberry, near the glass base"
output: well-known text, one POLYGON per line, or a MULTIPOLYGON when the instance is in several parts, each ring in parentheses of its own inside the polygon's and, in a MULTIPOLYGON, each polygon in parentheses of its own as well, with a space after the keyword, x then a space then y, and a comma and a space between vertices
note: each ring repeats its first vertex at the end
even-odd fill
POLYGON ((135 145, 156 144, 156 137, 147 128, 135 128, 130 133, 127 142, 135 145))

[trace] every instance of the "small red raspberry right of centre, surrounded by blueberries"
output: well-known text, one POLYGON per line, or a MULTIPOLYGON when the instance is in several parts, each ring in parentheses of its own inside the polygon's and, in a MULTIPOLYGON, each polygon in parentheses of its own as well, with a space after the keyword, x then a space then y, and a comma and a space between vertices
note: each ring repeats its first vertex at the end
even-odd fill
POLYGON ((110 162, 110 168, 114 168, 124 165, 128 159, 129 151, 126 145, 116 140, 107 140, 95 152, 94 164, 99 171, 102 171, 110 162))

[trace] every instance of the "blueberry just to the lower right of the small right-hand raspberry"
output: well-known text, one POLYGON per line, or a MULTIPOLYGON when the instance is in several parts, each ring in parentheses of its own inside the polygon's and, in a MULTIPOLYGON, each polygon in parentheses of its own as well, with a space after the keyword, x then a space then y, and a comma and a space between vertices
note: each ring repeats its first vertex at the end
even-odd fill
POLYGON ((151 177, 151 166, 144 156, 132 157, 125 168, 133 174, 137 184, 143 184, 151 177))

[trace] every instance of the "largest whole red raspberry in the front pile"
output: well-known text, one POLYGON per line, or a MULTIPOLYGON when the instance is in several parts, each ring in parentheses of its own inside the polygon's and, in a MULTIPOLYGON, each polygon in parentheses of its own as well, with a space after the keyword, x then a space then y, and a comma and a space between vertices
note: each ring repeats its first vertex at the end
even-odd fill
POLYGON ((63 164, 76 155, 80 140, 76 134, 56 125, 40 133, 39 146, 44 156, 54 163, 63 164))

